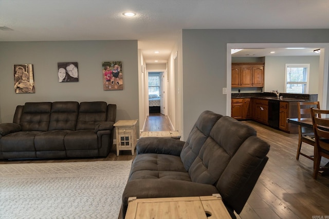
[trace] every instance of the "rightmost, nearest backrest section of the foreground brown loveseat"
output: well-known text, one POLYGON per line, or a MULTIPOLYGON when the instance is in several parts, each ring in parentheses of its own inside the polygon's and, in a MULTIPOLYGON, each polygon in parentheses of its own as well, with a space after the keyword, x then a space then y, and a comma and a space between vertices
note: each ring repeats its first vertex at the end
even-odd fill
POLYGON ((223 200, 238 214, 261 174, 270 146, 257 136, 250 136, 236 151, 216 187, 223 200))

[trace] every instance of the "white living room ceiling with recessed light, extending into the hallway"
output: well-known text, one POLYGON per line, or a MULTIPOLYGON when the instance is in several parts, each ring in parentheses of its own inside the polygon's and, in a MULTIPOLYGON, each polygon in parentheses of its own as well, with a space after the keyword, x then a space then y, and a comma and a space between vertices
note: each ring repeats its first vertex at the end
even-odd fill
POLYGON ((329 28, 328 0, 0 0, 0 41, 137 39, 147 63, 182 29, 308 28, 329 28))

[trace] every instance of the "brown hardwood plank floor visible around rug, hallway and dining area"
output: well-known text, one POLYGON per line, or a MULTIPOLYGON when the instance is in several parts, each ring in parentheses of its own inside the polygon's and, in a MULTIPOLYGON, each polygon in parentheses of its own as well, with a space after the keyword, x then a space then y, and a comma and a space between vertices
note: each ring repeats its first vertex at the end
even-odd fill
MULTIPOLYGON (((165 117, 150 116, 144 131, 166 131, 165 117)), ((248 202, 237 218, 329 218, 329 176, 312 177, 313 162, 301 156, 296 160, 298 134, 287 134, 252 121, 244 121, 257 135, 270 144, 269 160, 255 185, 248 202), (327 215, 327 217, 325 217, 327 215)), ((303 144, 302 150, 313 154, 313 147, 303 144)), ((84 162, 131 160, 130 151, 116 156, 115 146, 106 158, 47 160, 47 161, 0 161, 0 164, 38 162, 84 162)), ((322 165, 328 162, 322 158, 322 165)), ((120 217, 119 217, 120 218, 120 217)))

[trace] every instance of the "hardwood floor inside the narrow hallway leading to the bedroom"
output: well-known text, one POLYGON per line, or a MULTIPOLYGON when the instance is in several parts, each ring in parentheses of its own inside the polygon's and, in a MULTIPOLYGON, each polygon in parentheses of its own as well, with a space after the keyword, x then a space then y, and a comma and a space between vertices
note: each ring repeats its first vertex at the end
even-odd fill
POLYGON ((150 113, 145 120, 143 131, 174 131, 167 115, 150 113))

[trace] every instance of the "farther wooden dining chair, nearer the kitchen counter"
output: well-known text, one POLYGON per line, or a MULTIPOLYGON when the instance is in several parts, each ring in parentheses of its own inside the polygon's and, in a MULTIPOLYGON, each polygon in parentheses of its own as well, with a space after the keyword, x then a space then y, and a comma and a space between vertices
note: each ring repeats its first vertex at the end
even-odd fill
MULTIPOLYGON (((320 103, 316 102, 298 102, 298 119, 301 118, 311 118, 311 111, 310 108, 314 107, 320 109, 320 103)), ((299 160, 299 155, 305 156, 310 160, 314 160, 313 155, 307 155, 301 152, 302 143, 306 143, 309 145, 315 145, 314 139, 314 132, 313 128, 305 127, 305 126, 298 126, 298 148, 297 148, 297 155, 296 160, 299 160)))

